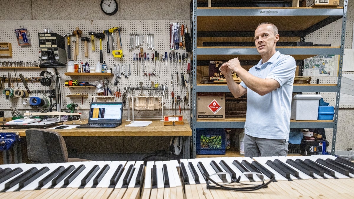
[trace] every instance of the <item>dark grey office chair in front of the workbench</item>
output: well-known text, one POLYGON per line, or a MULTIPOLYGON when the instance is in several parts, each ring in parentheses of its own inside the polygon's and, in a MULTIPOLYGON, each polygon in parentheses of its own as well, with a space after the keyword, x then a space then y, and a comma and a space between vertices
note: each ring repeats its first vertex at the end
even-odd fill
POLYGON ((80 158, 68 158, 68 150, 63 136, 47 129, 26 130, 28 159, 32 163, 66 163, 90 161, 80 158))

